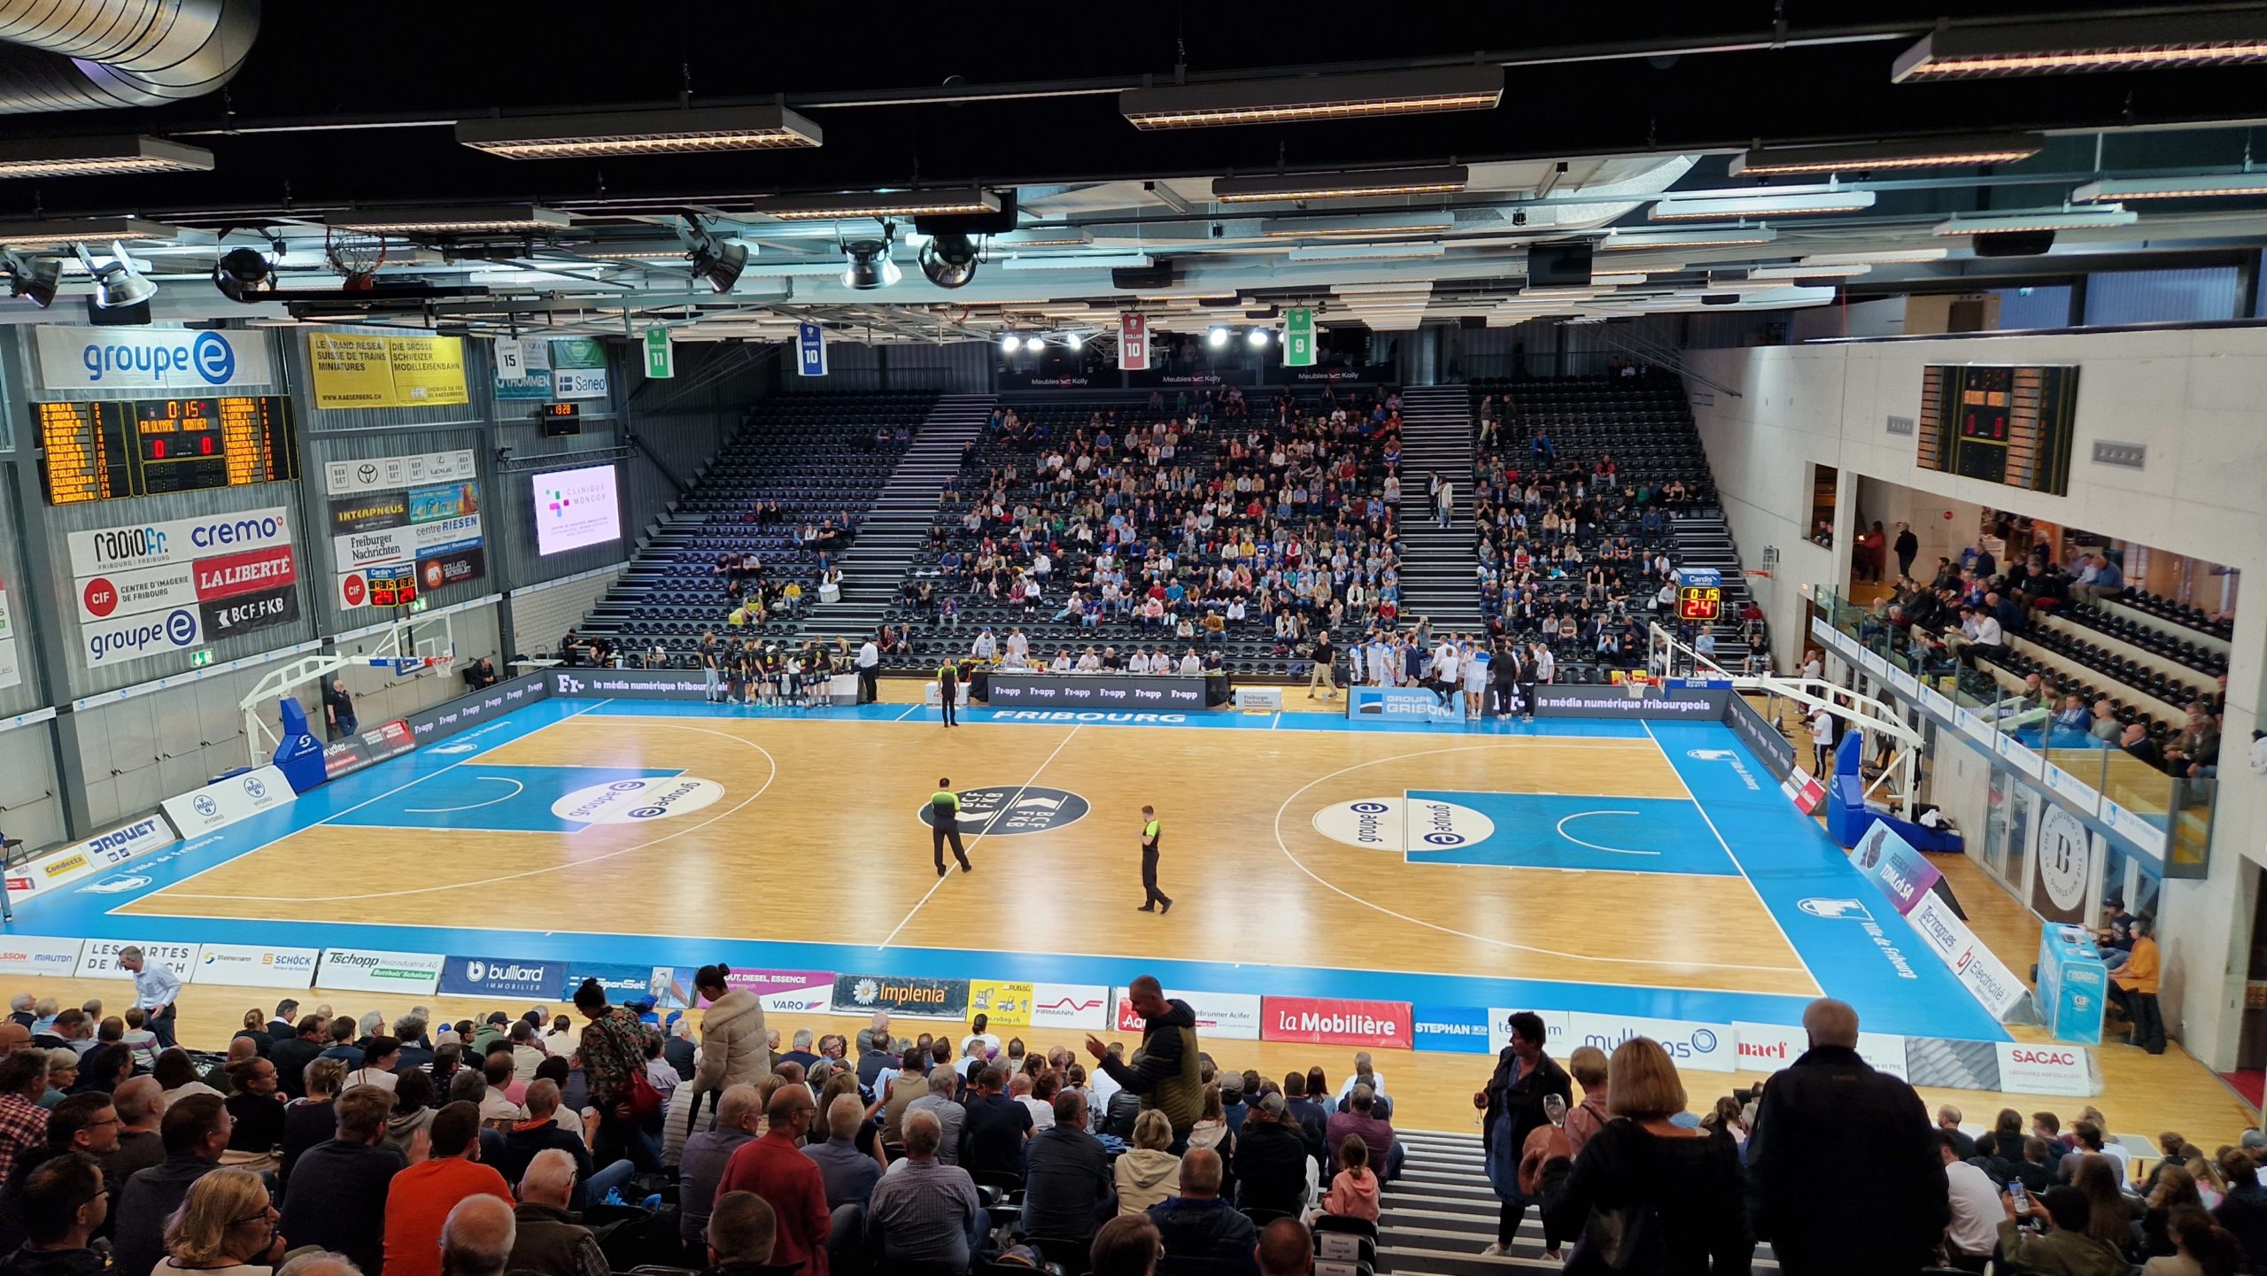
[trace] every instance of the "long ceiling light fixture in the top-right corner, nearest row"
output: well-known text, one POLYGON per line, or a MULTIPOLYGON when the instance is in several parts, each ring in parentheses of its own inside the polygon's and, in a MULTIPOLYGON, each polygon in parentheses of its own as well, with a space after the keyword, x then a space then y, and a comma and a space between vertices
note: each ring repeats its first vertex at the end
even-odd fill
POLYGON ((1941 25, 1897 54, 1893 84, 2267 61, 2258 11, 1941 25))

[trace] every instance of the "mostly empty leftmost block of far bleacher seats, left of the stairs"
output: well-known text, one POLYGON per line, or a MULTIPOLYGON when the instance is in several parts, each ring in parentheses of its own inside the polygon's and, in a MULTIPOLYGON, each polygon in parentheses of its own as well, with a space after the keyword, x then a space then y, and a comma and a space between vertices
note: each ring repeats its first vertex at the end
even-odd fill
POLYGON ((639 548, 621 580, 592 610, 585 637, 626 650, 655 644, 685 664, 701 632, 725 632, 735 610, 719 555, 757 555, 744 576, 746 598, 762 592, 769 619, 748 637, 789 637, 800 616, 778 605, 787 582, 816 603, 821 564, 841 558, 875 494, 902 456, 934 394, 782 394, 748 410, 746 424, 701 471, 694 490, 639 548), (877 435, 886 435, 877 437, 877 435), (821 539, 805 539, 812 530, 821 539))

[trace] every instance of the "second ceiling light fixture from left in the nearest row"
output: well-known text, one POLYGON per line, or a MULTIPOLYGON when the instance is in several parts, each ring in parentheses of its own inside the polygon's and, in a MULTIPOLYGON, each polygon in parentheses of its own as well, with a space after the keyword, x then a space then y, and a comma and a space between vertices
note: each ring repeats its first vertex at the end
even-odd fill
POLYGON ((784 107, 694 107, 458 120, 456 141, 503 159, 603 159, 805 150, 825 138, 818 125, 784 107))

